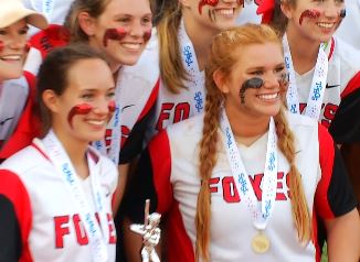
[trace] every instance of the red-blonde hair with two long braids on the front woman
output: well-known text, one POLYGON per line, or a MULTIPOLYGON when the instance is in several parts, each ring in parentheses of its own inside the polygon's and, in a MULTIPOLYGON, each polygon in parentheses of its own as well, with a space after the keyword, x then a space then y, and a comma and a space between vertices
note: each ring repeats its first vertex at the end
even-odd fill
MULTIPOLYGON (((212 42, 210 61, 205 68, 207 101, 203 120, 203 134, 200 142, 199 174, 201 187, 197 203, 197 260, 210 261, 210 221, 211 221, 211 195, 209 179, 216 164, 216 148, 219 143, 218 130, 220 127, 220 112, 223 95, 213 80, 215 70, 220 70, 224 77, 229 76, 236 63, 234 50, 252 44, 265 44, 274 42, 282 48, 279 37, 268 25, 245 24, 243 26, 225 30, 218 34, 212 42)), ((307 207, 301 177, 295 165, 294 134, 286 121, 284 108, 275 116, 278 148, 286 156, 289 170, 289 189, 292 193, 292 211, 298 238, 301 242, 308 242, 311 238, 310 214, 307 207)))

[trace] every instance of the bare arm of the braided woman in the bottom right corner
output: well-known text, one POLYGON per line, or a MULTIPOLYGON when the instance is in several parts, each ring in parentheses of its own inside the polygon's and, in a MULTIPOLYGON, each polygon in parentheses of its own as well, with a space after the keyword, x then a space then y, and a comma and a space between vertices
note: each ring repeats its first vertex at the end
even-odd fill
POLYGON ((329 262, 358 262, 360 259, 360 219, 357 209, 325 220, 329 262))

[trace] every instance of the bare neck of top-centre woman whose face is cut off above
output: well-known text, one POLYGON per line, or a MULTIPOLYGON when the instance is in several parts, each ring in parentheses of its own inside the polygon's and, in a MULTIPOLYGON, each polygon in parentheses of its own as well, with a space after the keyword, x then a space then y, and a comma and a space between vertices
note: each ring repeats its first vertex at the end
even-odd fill
POLYGON ((195 22, 190 15, 192 14, 188 13, 187 10, 183 10, 182 17, 184 29, 195 51, 199 69, 203 70, 208 61, 212 37, 219 31, 195 22))

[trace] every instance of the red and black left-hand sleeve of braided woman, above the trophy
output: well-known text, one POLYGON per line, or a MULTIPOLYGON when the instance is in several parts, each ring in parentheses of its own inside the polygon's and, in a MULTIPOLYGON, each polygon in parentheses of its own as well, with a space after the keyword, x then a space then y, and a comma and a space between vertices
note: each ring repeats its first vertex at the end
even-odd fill
POLYGON ((161 132, 142 152, 130 177, 124 199, 126 217, 142 223, 146 199, 150 199, 150 212, 168 212, 173 198, 170 174, 169 139, 166 132, 161 132))

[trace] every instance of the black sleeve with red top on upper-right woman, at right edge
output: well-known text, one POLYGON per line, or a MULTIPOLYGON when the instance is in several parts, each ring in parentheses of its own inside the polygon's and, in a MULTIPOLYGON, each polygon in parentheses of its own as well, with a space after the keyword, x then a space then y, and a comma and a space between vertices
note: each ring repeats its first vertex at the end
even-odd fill
POLYGON ((329 127, 337 143, 360 142, 360 72, 341 94, 341 102, 329 127))

